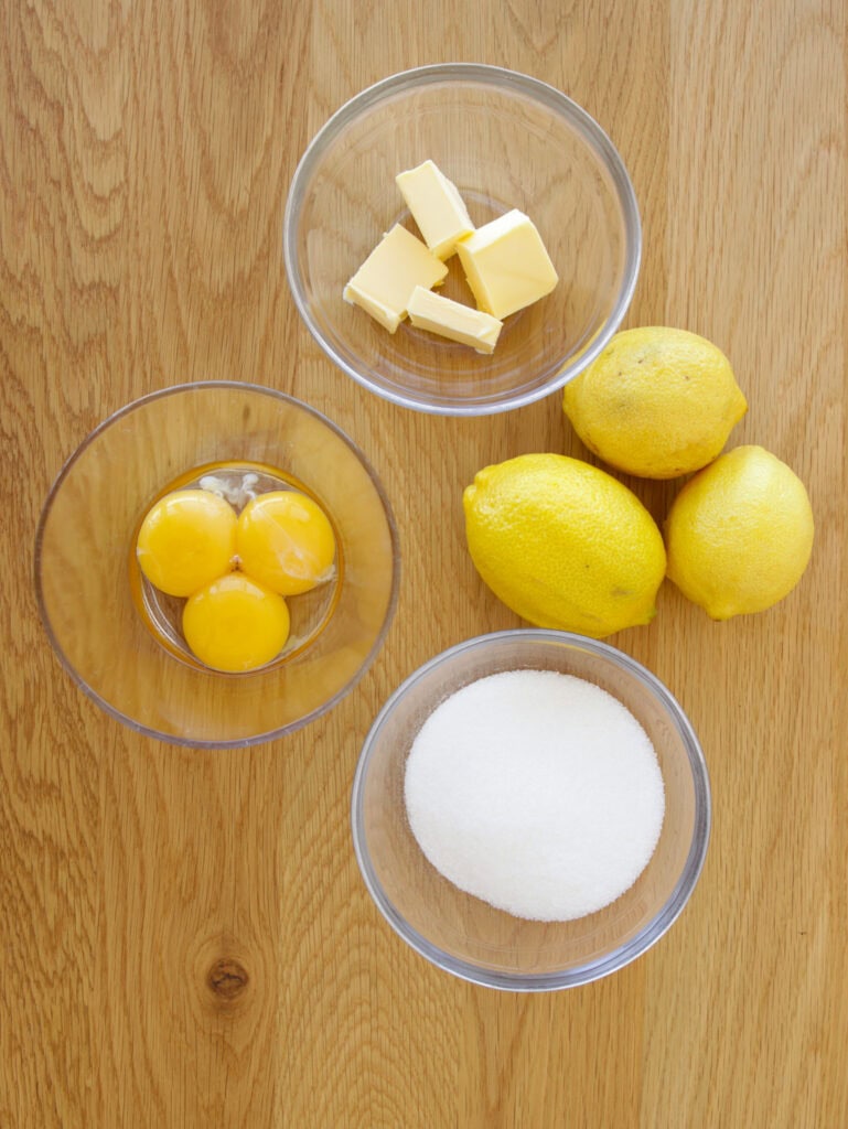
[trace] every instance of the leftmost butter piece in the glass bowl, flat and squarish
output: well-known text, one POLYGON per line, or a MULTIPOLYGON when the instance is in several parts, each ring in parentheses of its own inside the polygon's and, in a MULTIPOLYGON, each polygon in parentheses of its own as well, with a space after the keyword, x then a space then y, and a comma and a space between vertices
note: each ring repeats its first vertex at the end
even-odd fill
POLYGON ((446 274, 447 266, 411 231, 395 224, 344 287, 343 298, 394 333, 406 316, 416 287, 429 290, 444 282, 446 274))

